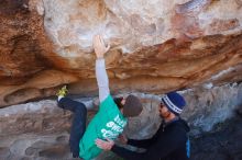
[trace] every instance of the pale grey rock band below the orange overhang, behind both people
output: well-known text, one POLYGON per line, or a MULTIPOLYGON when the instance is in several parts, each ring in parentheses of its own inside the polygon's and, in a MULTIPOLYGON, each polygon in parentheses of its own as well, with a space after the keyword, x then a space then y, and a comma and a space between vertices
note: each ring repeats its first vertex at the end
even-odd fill
MULTIPOLYGON (((212 130, 216 124, 233 117, 234 110, 242 105, 242 83, 212 89, 195 88, 180 91, 180 93, 188 102, 183 117, 189 122, 193 136, 200 136, 212 130)), ((157 107, 162 95, 135 94, 142 99, 145 107, 141 116, 131 118, 132 122, 127 127, 127 134, 132 136, 135 133, 136 137, 148 137, 152 135, 151 130, 154 130, 160 124, 157 107)), ((97 99, 75 100, 85 102, 90 115, 98 110, 97 99)), ((69 128, 69 112, 62 112, 53 100, 12 105, 1 108, 0 136, 58 133, 69 128)))

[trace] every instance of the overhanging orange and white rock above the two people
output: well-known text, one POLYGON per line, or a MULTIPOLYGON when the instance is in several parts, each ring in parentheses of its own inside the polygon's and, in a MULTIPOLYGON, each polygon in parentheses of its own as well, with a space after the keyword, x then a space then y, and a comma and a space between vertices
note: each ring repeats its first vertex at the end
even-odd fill
POLYGON ((0 22, 0 106, 54 95, 63 83, 97 94, 97 33, 111 44, 113 92, 242 79, 241 0, 2 0, 0 22))

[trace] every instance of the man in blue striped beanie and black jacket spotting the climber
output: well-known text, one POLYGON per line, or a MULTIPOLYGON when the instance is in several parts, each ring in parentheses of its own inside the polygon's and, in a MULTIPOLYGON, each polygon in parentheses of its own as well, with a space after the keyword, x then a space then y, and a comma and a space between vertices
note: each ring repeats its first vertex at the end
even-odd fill
POLYGON ((120 141, 144 148, 144 152, 131 151, 114 145, 113 140, 96 139, 96 144, 103 150, 111 150, 125 160, 188 160, 189 159, 189 127, 179 117, 186 102, 184 98, 169 92, 161 100, 160 115, 163 122, 156 134, 144 140, 128 139, 120 136, 120 141))

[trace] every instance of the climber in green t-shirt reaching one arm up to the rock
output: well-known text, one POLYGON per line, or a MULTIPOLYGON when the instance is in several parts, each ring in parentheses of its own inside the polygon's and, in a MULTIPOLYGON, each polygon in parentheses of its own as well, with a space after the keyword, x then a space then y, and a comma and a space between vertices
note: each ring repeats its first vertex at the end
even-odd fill
POLYGON ((96 138, 116 139, 127 125, 127 117, 138 116, 142 112, 140 100, 130 94, 127 98, 110 95, 109 80, 106 72, 103 55, 109 47, 100 35, 94 37, 96 59, 96 77, 99 89, 99 111, 94 116, 86 129, 87 108, 84 103, 66 98, 67 88, 63 87, 58 95, 58 106, 74 112, 74 119, 70 129, 69 146, 74 158, 85 160, 97 157, 101 149, 95 144, 96 138))

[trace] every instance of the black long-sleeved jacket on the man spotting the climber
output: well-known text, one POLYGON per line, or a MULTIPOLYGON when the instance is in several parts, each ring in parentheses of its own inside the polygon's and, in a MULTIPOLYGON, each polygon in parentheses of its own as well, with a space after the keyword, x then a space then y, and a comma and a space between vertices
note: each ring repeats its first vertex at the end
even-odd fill
POLYGON ((188 160, 186 142, 189 127, 180 118, 165 125, 151 139, 129 139, 128 145, 145 148, 145 152, 135 152, 113 146, 112 151, 125 160, 188 160))

